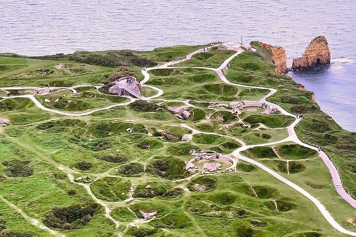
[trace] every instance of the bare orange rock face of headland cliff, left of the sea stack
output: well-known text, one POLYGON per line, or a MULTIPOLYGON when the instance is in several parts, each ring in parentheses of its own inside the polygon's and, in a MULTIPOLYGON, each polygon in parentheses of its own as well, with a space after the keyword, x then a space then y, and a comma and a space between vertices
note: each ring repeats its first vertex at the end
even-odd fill
POLYGON ((288 72, 287 57, 283 47, 275 47, 270 44, 259 42, 260 47, 269 51, 272 61, 275 64, 274 72, 282 74, 288 72))

